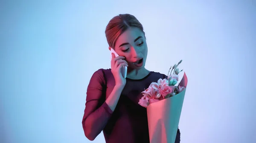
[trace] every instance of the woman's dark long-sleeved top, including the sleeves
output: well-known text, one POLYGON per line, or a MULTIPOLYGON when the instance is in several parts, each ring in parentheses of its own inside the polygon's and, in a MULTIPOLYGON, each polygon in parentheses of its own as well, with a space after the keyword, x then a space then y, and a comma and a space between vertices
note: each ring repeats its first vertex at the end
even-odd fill
MULTIPOLYGON (((106 143, 149 143, 147 110, 138 104, 141 92, 166 75, 150 72, 143 79, 128 79, 120 95, 115 110, 105 103, 115 86, 111 69, 99 69, 90 79, 87 87, 86 107, 82 125, 84 134, 94 140, 103 130, 106 143)), ((177 129, 175 143, 180 143, 177 129)))

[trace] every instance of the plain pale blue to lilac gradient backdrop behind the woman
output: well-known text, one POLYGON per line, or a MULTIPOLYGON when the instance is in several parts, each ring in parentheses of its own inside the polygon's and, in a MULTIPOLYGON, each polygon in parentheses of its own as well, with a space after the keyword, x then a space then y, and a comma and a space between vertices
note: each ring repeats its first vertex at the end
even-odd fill
POLYGON ((87 85, 110 68, 105 27, 125 13, 145 28, 148 70, 183 59, 181 143, 256 143, 255 0, 1 0, 0 143, 90 143, 87 85))

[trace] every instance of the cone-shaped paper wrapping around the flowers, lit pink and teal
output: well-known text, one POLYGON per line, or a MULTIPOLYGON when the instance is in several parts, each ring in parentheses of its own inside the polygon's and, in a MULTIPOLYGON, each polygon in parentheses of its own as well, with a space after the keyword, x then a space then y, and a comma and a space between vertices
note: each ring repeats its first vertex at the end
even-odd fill
POLYGON ((175 143, 181 109, 186 93, 187 77, 184 73, 180 86, 185 89, 170 98, 149 104, 147 107, 150 143, 175 143))

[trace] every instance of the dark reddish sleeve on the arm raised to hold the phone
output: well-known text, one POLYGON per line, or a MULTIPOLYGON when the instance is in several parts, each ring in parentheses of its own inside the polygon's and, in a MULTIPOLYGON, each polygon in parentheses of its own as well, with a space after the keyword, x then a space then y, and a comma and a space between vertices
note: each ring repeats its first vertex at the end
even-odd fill
POLYGON ((87 87, 87 96, 82 125, 84 135, 94 140, 106 126, 113 113, 105 102, 105 79, 102 70, 93 73, 87 87))

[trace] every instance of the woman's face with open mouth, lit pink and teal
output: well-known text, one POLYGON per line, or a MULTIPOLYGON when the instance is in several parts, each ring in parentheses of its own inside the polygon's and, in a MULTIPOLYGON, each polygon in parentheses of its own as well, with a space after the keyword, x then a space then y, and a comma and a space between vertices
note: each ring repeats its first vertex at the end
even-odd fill
POLYGON ((139 28, 128 28, 116 40, 115 51, 124 56, 128 68, 141 69, 145 66, 148 47, 143 32, 139 28))

